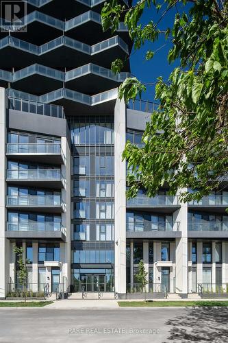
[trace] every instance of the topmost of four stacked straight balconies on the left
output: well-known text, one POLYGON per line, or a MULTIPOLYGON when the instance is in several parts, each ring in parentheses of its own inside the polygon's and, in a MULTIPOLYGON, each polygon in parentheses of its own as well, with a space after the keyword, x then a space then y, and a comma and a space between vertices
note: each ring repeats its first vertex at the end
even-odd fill
POLYGON ((61 143, 8 143, 6 156, 20 161, 62 164, 66 158, 61 143))

